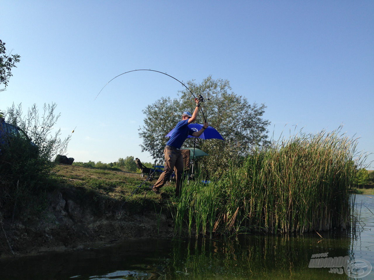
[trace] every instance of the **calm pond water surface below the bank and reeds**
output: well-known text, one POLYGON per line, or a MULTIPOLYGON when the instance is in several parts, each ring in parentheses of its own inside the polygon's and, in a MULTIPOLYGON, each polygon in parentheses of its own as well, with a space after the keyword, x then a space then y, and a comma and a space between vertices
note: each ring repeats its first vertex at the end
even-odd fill
MULTIPOLYGON (((213 240, 142 239, 73 253, 0 261, 0 279, 352 279, 309 268, 313 254, 365 259, 374 266, 374 196, 356 195, 356 234, 246 234, 213 240)), ((374 280, 373 270, 359 279, 374 280)))

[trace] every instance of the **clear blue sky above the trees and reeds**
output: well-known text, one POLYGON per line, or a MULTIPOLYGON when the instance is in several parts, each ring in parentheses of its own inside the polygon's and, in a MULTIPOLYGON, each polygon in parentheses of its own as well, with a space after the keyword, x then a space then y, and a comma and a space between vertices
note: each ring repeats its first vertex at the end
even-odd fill
POLYGON ((358 151, 372 153, 373 30, 371 0, 2 1, 0 38, 21 62, 0 109, 57 103, 62 137, 76 127, 68 146, 76 161, 152 161, 139 147, 141 110, 183 86, 138 71, 94 101, 98 92, 134 69, 197 83, 212 75, 267 105, 270 136, 343 124, 360 137, 358 151))

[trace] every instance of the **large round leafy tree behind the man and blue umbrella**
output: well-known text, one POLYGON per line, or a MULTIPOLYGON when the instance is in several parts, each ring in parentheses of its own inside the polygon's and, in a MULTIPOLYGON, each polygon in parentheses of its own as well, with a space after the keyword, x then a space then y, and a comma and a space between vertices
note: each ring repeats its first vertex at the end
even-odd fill
MULTIPOLYGON (((253 146, 269 144, 267 127, 270 122, 262 118, 266 108, 264 104, 249 104, 245 97, 233 93, 229 81, 214 80, 211 76, 201 84, 188 81, 187 86, 196 96, 201 94, 204 97, 205 102, 201 106, 206 120, 225 139, 196 140, 196 147, 210 155, 203 158, 205 169, 210 169, 211 173, 219 172, 227 168, 228 159, 248 155, 253 146)), ((143 140, 141 147, 155 159, 163 159, 163 147, 168 140, 165 135, 181 120, 181 113, 192 113, 195 108, 189 91, 180 91, 179 96, 178 99, 162 97, 143 110, 144 126, 139 133, 143 140)), ((203 121, 200 111, 196 122, 202 124, 203 121)), ((193 145, 194 138, 184 143, 184 147, 193 145)))

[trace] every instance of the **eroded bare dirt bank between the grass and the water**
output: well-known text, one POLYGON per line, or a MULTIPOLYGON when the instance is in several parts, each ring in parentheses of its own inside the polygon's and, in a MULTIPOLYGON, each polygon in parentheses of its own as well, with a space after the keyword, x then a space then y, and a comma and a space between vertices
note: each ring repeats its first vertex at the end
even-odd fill
MULTIPOLYGON (((165 210, 82 196, 77 189, 48 195, 49 206, 35 216, 4 219, 0 257, 66 251, 140 237, 172 236, 172 217, 165 210), (119 211, 120 209, 120 211, 119 211)), ((166 207, 165 207, 166 208, 166 207)))

